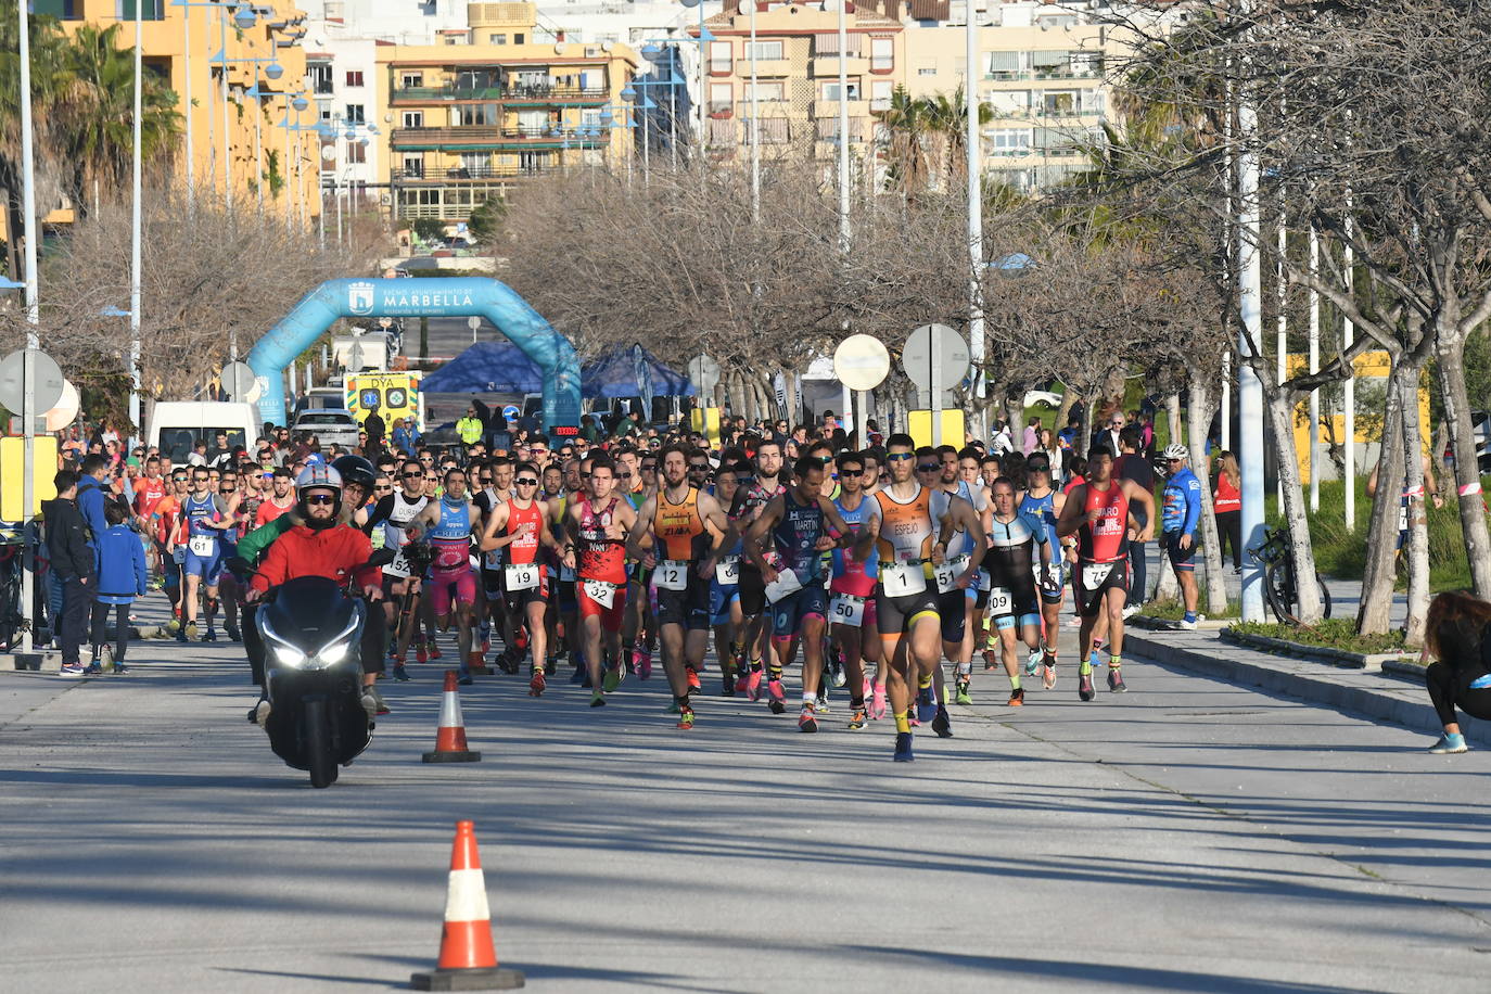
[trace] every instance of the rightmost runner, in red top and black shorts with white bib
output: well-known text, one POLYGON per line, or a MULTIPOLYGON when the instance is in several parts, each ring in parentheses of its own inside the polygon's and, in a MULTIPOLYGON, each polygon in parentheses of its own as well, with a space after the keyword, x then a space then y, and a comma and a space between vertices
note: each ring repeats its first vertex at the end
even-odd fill
POLYGON ((1087 456, 1087 480, 1066 495, 1066 507, 1057 519, 1057 535, 1078 536, 1074 590, 1082 624, 1078 635, 1081 668, 1077 696, 1091 700, 1093 691, 1093 632, 1099 615, 1108 618, 1108 688, 1127 690, 1123 681, 1123 608, 1129 598, 1129 528, 1139 529, 1144 541, 1153 536, 1154 495, 1132 480, 1114 480, 1114 455, 1099 446, 1087 456), (1145 514, 1141 528, 1130 504, 1139 504, 1145 514))

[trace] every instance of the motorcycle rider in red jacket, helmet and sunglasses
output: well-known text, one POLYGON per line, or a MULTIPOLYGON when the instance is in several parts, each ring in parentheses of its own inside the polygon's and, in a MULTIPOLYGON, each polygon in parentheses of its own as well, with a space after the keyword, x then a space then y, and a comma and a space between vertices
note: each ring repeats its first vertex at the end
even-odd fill
MULTIPOLYGON (((356 587, 373 605, 383 599, 383 577, 377 566, 365 566, 373 554, 373 542, 356 528, 341 522, 341 474, 331 466, 306 466, 295 480, 295 510, 292 525, 268 551, 258 572, 249 581, 246 601, 253 604, 274 586, 297 577, 330 577, 337 581, 355 574, 356 587)), ((377 714, 379 700, 373 690, 383 665, 383 612, 370 610, 362 624, 362 708, 368 721, 377 714)), ((261 697, 250 718, 261 727, 270 717, 268 697, 261 697)))

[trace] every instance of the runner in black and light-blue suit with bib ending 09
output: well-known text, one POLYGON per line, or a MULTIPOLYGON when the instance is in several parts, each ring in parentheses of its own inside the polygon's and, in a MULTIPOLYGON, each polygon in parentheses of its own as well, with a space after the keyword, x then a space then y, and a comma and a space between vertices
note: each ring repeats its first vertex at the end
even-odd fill
MULTIPOLYGON (((1015 484, 1008 477, 994 480, 994 513, 989 531, 990 592, 989 615, 999 632, 1003 650, 1005 674, 1009 677, 1011 708, 1024 703, 1024 688, 1020 686, 1020 663, 1015 659, 1015 639, 1023 639, 1030 650, 1026 674, 1035 675, 1042 663, 1041 651, 1041 601, 1036 596, 1036 575, 1042 577, 1042 589, 1056 586, 1051 571, 1051 542, 1045 522, 1020 511, 1015 505, 1015 484), (1039 557, 1036 548, 1041 550, 1039 557), (1039 574, 1036 572, 1039 566, 1039 574)), ((1060 590, 1060 587, 1056 587, 1060 590)))

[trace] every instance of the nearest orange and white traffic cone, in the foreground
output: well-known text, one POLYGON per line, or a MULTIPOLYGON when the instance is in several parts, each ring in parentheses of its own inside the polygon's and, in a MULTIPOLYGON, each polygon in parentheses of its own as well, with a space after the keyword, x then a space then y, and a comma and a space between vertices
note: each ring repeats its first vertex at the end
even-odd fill
POLYGON ((523 975, 497 966, 486 879, 470 821, 456 823, 450 848, 446 924, 440 930, 440 963, 410 978, 416 991, 505 991, 523 985, 523 975))

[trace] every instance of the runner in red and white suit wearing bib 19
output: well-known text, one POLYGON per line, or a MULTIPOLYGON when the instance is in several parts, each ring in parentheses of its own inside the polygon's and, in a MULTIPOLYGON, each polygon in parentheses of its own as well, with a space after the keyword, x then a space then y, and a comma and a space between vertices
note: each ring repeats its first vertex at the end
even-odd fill
MULTIPOLYGON (((528 626, 528 645, 532 663, 528 672, 528 693, 534 697, 544 691, 544 663, 549 659, 549 629, 544 612, 549 608, 549 568, 538 559, 540 547, 558 548, 549 531, 549 507, 534 499, 538 492, 538 466, 519 463, 514 474, 517 495, 492 508, 482 534, 482 550, 507 550, 507 565, 502 569, 501 595, 505 601, 505 629, 502 641, 517 645, 517 627, 528 626)), ((520 665, 516 650, 508 650, 513 672, 520 665)), ((504 668, 505 669, 505 668, 504 668)))

